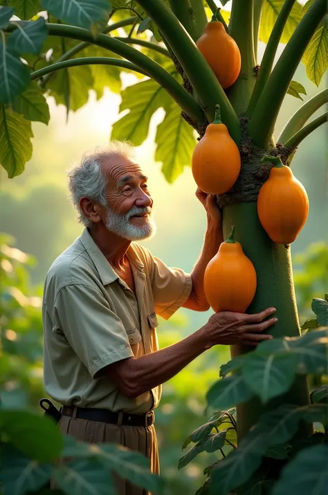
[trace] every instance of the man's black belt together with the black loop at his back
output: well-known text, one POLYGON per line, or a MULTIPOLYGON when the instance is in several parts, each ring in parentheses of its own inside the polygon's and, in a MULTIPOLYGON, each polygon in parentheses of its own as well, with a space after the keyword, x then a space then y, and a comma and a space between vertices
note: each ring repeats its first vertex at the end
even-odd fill
POLYGON ((73 416, 79 419, 92 419, 111 424, 124 424, 129 426, 151 426, 154 424, 154 411, 146 412, 145 414, 130 414, 129 412, 113 412, 108 409, 95 408, 74 408, 74 406, 63 406, 58 410, 49 399, 42 399, 40 406, 45 411, 45 415, 51 417, 58 423, 60 417, 73 416), (44 404, 47 404, 46 407, 44 404), (74 410, 76 414, 74 413, 74 410))

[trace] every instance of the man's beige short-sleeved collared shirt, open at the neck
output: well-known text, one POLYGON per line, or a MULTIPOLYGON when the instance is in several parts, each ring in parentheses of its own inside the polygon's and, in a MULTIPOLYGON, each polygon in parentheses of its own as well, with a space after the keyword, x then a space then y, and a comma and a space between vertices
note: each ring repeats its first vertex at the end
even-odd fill
POLYGON ((192 290, 190 275, 167 268, 138 243, 127 251, 136 294, 116 275, 88 229, 46 275, 44 386, 64 405, 142 413, 158 406, 161 385, 128 399, 104 367, 158 350, 157 315, 165 320, 192 290))

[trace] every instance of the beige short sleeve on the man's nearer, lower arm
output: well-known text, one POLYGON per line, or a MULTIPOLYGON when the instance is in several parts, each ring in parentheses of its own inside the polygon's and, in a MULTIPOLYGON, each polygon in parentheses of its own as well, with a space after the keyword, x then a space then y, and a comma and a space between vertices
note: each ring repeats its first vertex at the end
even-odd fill
POLYGON ((121 320, 97 288, 64 286, 55 299, 54 322, 93 378, 105 366, 134 356, 121 320))

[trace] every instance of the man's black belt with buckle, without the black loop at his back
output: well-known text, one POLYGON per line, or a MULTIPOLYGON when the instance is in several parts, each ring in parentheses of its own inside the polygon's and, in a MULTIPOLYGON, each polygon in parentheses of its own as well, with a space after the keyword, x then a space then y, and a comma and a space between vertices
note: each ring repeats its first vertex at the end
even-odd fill
MULTIPOLYGON (((64 416, 75 416, 73 406, 63 406, 61 410, 64 416)), ((76 417, 79 419, 92 419, 111 424, 124 424, 129 426, 151 426, 154 424, 154 411, 145 414, 129 414, 129 412, 113 412, 108 409, 76 408, 76 417)))

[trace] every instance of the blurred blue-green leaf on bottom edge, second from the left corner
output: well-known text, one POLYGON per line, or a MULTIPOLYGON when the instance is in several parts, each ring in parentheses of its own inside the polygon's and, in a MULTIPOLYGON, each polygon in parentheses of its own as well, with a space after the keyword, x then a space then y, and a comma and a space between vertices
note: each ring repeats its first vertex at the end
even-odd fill
POLYGON ((116 495, 109 469, 95 459, 62 464, 53 477, 66 495, 116 495))

